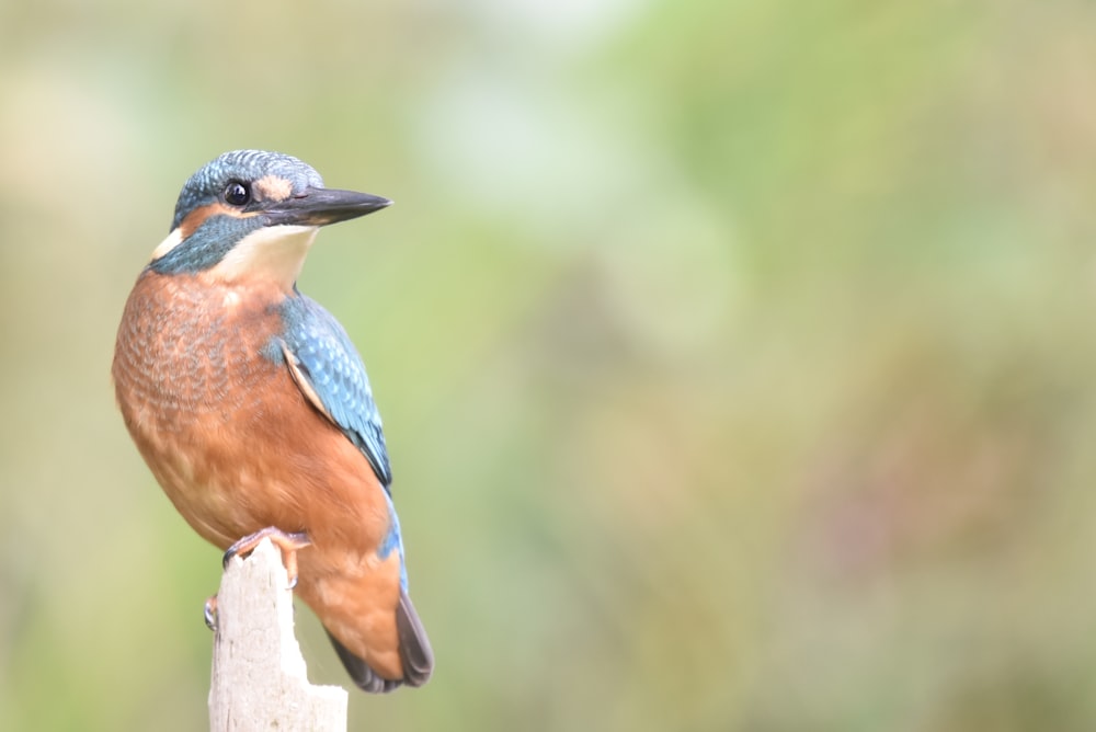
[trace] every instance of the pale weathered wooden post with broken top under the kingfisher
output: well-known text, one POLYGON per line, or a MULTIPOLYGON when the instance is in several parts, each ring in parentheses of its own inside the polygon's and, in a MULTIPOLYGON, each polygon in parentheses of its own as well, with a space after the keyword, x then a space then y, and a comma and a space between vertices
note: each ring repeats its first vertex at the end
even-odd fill
POLYGON ((293 633, 293 592, 264 539, 233 558, 217 593, 209 729, 345 732, 346 689, 312 686, 293 633))

